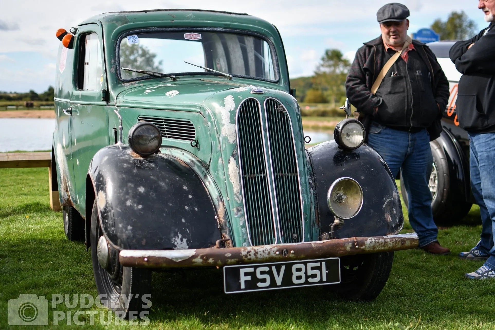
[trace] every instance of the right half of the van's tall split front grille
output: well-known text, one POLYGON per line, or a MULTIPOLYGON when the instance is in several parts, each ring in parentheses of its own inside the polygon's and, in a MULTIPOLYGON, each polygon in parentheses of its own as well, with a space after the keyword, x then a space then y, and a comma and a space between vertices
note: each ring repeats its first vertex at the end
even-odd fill
POLYGON ((304 238, 301 191, 291 119, 276 99, 265 101, 268 140, 272 160, 280 240, 301 242, 304 238))

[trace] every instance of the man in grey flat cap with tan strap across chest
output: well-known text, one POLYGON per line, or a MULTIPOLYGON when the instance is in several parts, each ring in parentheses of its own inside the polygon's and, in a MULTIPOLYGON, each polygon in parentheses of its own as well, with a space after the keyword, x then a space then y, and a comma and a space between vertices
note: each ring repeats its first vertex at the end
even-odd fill
POLYGON ((367 129, 367 141, 389 166, 402 169, 409 223, 419 247, 449 254, 437 239, 428 187, 433 157, 430 141, 442 131, 448 81, 425 44, 407 36, 409 9, 389 3, 377 12, 382 35, 359 48, 346 81, 346 94, 367 129))

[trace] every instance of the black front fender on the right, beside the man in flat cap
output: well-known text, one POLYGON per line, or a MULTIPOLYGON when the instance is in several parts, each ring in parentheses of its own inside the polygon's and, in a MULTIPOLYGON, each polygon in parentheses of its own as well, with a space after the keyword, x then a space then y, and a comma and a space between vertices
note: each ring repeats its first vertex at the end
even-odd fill
POLYGON ((335 221, 327 204, 328 189, 342 177, 359 183, 364 201, 359 213, 345 220, 333 237, 392 235, 402 229, 404 218, 394 178, 373 148, 363 144, 355 150, 343 150, 335 141, 327 141, 307 149, 307 153, 313 169, 321 236, 330 232, 335 221))

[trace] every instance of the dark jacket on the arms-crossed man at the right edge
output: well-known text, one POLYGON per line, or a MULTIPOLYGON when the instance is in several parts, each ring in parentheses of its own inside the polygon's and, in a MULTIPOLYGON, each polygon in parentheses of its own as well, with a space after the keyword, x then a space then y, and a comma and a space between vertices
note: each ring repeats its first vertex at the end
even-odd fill
POLYGON ((455 106, 459 126, 468 132, 495 132, 495 29, 455 43, 449 52, 462 73, 455 106), (473 47, 467 49, 471 44, 473 47))

